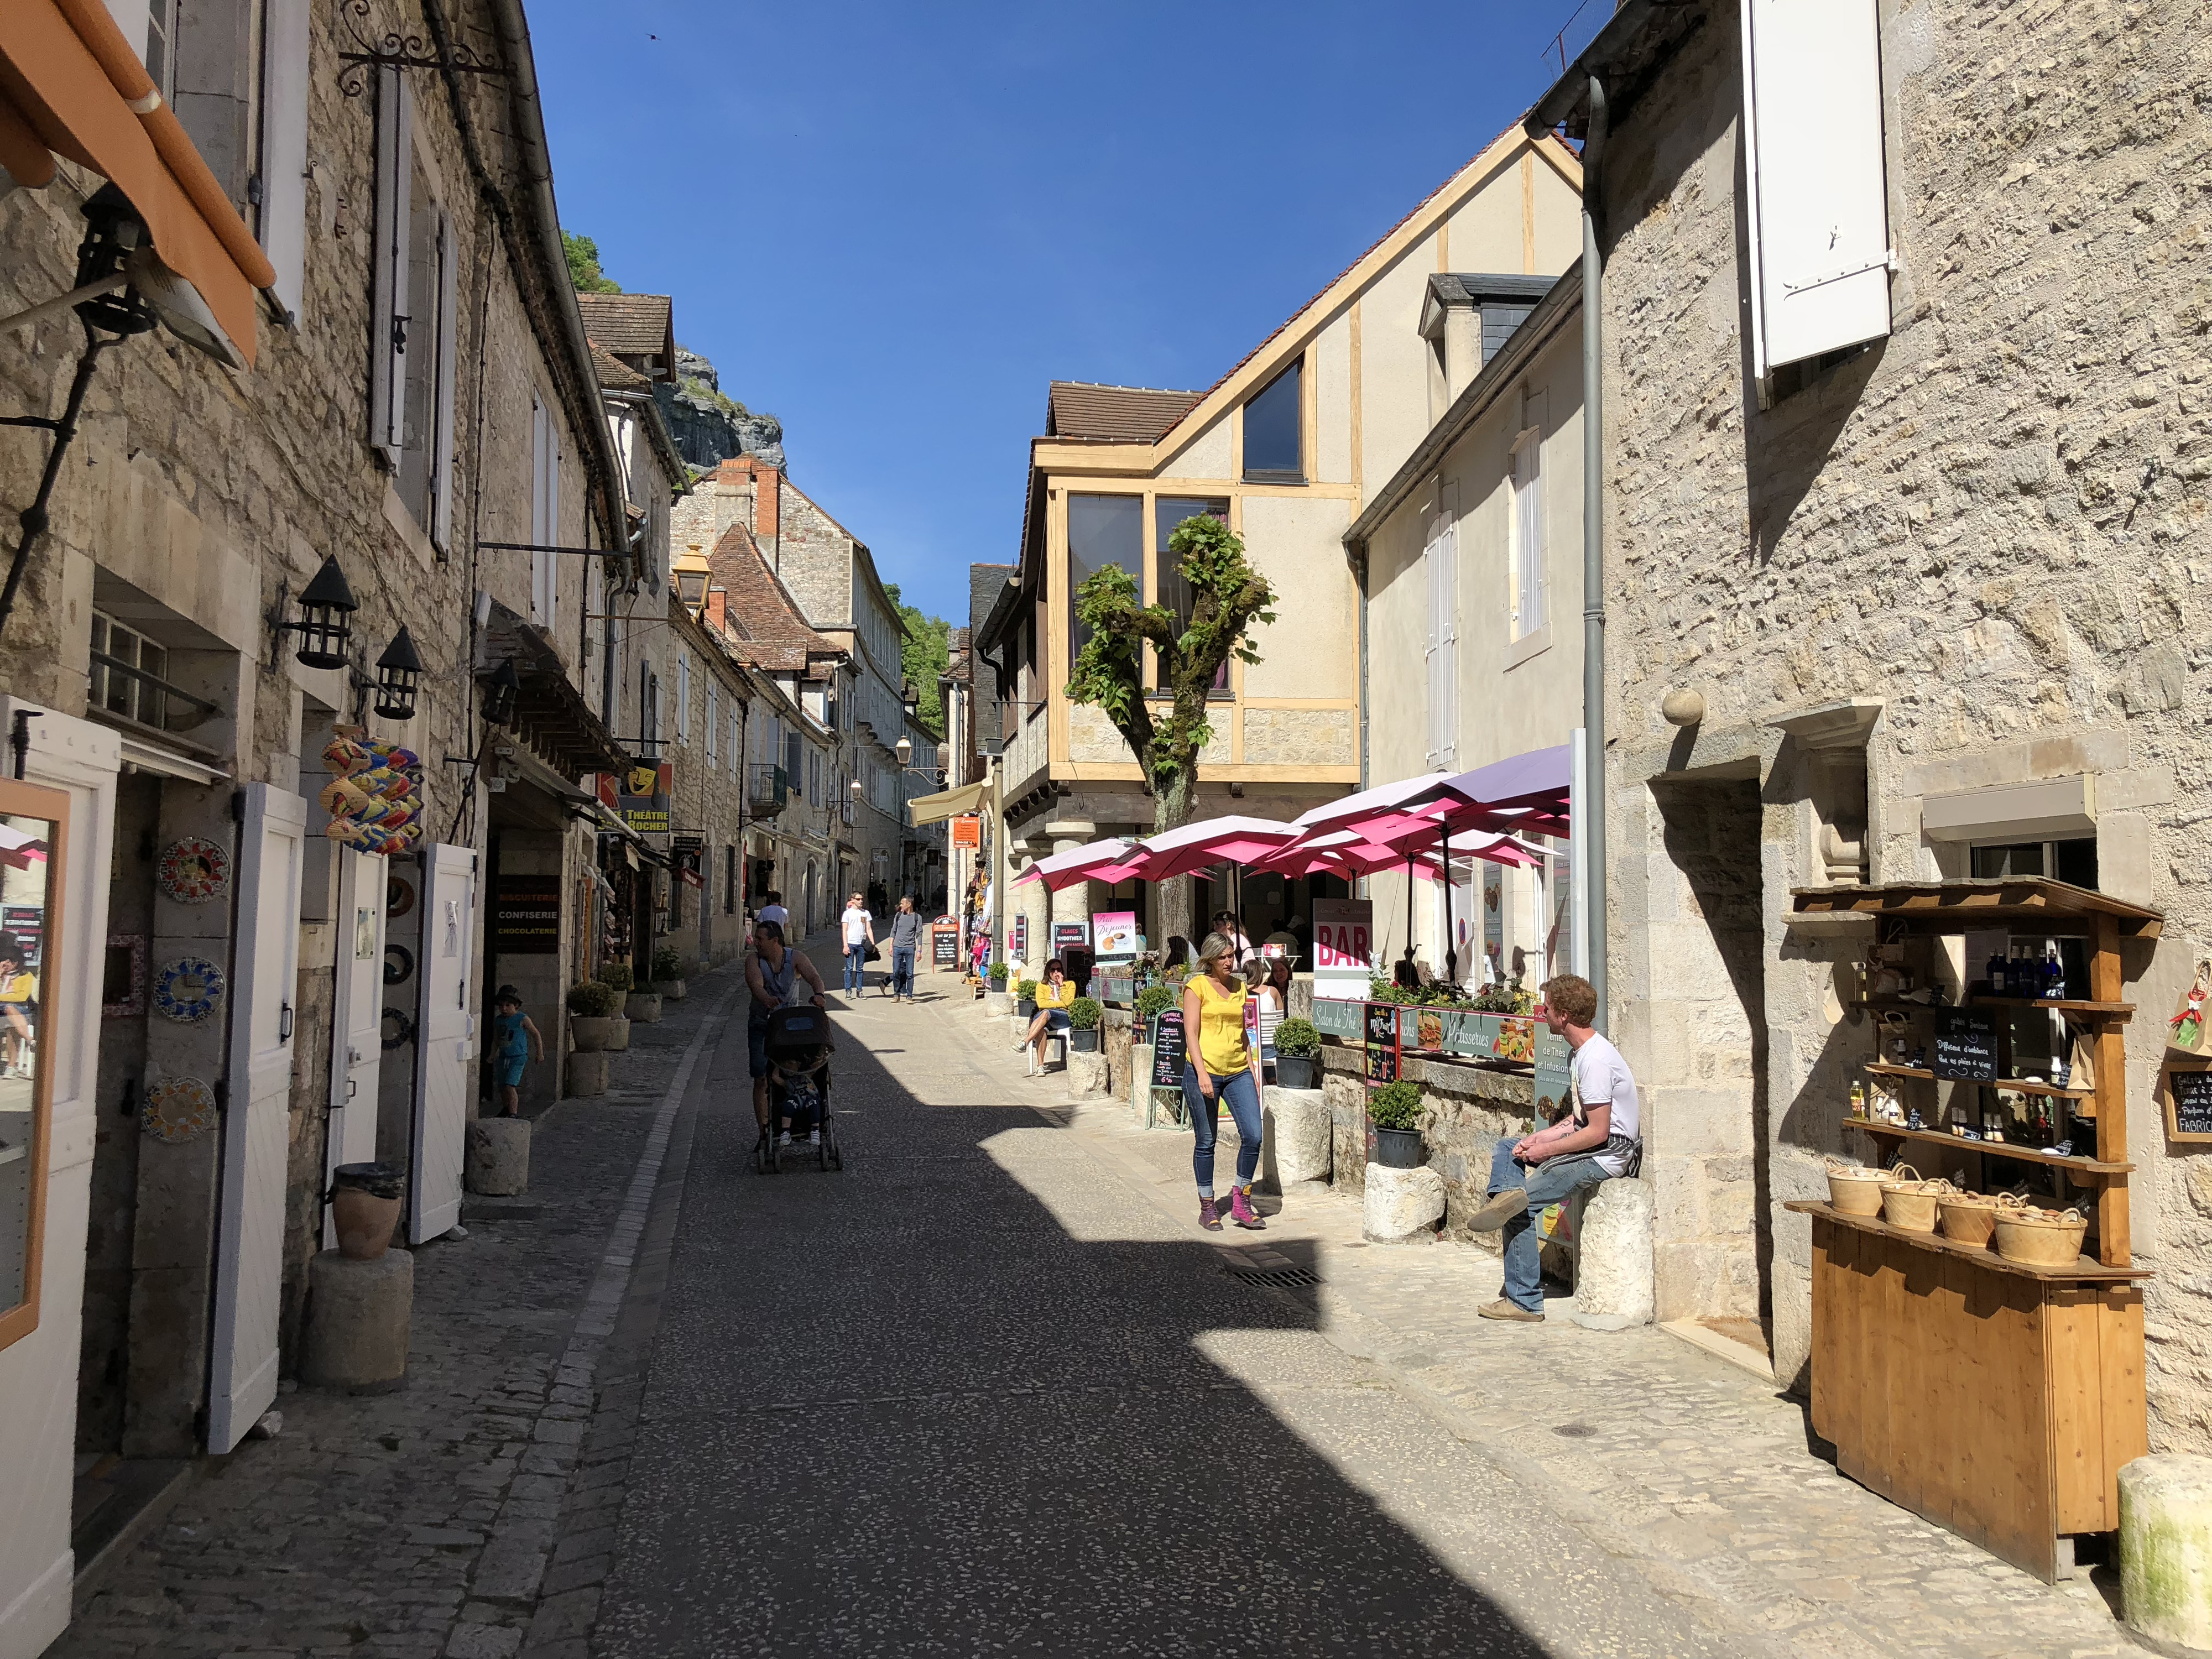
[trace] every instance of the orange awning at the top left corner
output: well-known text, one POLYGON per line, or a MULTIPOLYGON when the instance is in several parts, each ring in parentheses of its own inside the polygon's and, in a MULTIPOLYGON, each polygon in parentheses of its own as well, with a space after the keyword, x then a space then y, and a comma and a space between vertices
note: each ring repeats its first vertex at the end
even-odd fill
POLYGON ((53 157, 131 197, 161 261, 208 301, 254 361, 254 290, 276 272, 246 221, 161 102, 102 0, 0 4, 0 166, 22 186, 53 177, 53 157))

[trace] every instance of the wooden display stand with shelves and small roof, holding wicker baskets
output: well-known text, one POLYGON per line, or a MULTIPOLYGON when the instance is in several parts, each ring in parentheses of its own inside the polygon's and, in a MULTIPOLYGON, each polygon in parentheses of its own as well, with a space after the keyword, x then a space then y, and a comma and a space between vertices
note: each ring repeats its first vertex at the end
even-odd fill
MULTIPOLYGON (((2095 1117, 2095 1155, 1845 1121, 1874 1139, 1885 1166, 1940 1144, 1978 1166, 2008 1159, 2093 1190, 2095 1256, 2028 1267, 1993 1245, 1905 1232, 1829 1203, 1783 1206, 1812 1217, 1812 1427, 1836 1444, 1836 1467, 2013 1566, 2046 1582, 2066 1577, 2075 1535, 2119 1526, 2119 1469, 2150 1449, 2139 1283, 2150 1274, 2128 1254, 2135 1166, 2121 1026, 2135 1009, 2119 1000, 2119 940, 2157 938, 2159 914, 2042 878, 1807 887, 1792 898, 1801 916, 1874 916, 1885 942, 1982 929, 2088 940, 2088 1000, 1971 995, 1966 1004, 2057 1009, 2088 1031, 2093 1091, 1993 1086, 2075 1102, 2073 1115, 2095 1117)), ((1887 1064, 1869 1071, 1936 1075, 1887 1064)))

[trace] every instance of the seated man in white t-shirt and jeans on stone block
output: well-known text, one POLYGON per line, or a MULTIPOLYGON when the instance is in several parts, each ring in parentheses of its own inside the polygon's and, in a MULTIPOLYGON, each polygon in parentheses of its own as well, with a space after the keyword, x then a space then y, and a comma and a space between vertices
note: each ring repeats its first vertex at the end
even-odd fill
POLYGON ((1533 1217, 1584 1186, 1628 1175, 1644 1155, 1637 1079, 1621 1051, 1597 1035, 1597 991, 1577 973, 1544 984, 1544 1022, 1575 1051, 1575 1108, 1551 1128, 1502 1139, 1491 1150, 1491 1197, 1469 1217, 1475 1232, 1506 1239, 1504 1296, 1484 1318, 1544 1318, 1544 1239, 1533 1217))

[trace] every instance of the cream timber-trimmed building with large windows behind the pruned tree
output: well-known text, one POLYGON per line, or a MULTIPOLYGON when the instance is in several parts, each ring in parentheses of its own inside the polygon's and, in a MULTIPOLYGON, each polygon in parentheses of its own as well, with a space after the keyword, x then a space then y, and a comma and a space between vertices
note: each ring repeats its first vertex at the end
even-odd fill
MULTIPOLYGON (((1093 571, 1119 564, 1146 602, 1188 606, 1166 549, 1175 526, 1199 513, 1243 535, 1279 604, 1276 622, 1252 639, 1261 661, 1223 668, 1194 814, 1292 818, 1369 779, 1360 703, 1376 659, 1363 655, 1343 535, 1455 389, 1442 330, 1422 332, 1433 279, 1504 272, 1526 285, 1566 270, 1579 179, 1568 146, 1513 128, 1212 387, 1051 383, 1044 436, 1031 440, 1020 580, 973 637, 1011 672, 1002 772, 1022 856, 1152 827, 1121 734, 1097 708, 1064 697, 1082 648, 1073 595, 1093 571)), ((1374 675, 1391 672, 1376 661, 1374 675)), ((1252 880, 1245 925, 1270 933, 1310 914, 1314 891, 1303 880, 1252 880)), ((1082 918, 1110 898, 1110 907, 1146 902, 1068 887, 1053 914, 1082 918)))

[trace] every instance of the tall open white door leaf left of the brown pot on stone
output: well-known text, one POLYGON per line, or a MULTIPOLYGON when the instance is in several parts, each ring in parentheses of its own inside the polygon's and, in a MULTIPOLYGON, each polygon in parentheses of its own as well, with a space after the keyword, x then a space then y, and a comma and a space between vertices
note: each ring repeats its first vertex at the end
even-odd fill
POLYGON ((223 1197, 215 1234, 215 1356, 208 1451, 246 1438, 276 1398, 283 1292, 285 1152, 292 1097, 292 989, 299 980, 299 878, 307 803, 246 785, 239 920, 230 980, 223 1197))

